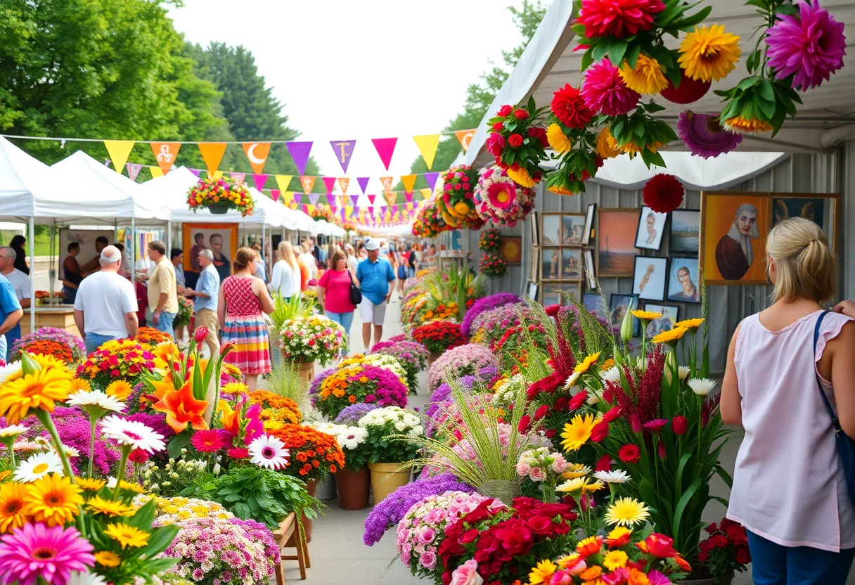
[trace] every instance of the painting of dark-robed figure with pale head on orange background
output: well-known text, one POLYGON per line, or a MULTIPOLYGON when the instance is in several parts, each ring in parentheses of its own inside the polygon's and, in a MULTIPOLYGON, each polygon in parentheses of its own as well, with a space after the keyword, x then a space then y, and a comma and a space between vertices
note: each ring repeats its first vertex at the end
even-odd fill
POLYGON ((700 267, 706 283, 766 284, 769 223, 764 194, 702 192, 700 267))

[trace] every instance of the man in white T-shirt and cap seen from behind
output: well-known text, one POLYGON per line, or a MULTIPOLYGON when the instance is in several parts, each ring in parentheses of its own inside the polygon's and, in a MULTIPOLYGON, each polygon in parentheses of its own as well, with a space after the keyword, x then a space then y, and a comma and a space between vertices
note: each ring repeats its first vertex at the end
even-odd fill
POLYGON ((109 340, 137 336, 137 293, 133 284, 119 275, 121 252, 108 245, 99 258, 101 270, 83 279, 74 299, 74 323, 86 344, 86 353, 94 352, 109 340))

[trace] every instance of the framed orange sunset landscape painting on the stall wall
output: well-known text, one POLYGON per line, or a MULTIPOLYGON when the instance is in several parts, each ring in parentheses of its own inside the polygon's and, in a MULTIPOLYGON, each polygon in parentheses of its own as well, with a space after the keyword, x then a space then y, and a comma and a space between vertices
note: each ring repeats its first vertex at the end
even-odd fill
POLYGON ((635 231, 640 210, 598 210, 597 274, 631 276, 635 263, 635 231))

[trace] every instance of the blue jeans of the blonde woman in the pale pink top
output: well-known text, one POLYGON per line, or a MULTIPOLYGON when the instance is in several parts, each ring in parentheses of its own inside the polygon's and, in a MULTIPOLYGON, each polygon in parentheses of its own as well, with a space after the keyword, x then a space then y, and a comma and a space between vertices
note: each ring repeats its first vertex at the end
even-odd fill
POLYGON ((783 547, 748 532, 754 585, 845 585, 855 548, 783 547))

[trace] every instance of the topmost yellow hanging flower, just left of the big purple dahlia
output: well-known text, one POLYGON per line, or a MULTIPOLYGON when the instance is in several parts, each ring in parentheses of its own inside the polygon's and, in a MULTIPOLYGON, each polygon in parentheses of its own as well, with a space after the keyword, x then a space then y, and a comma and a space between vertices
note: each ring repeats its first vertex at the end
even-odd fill
POLYGON ((722 80, 740 60, 740 38, 724 32, 722 25, 695 27, 680 44, 677 62, 687 76, 698 81, 722 80))

